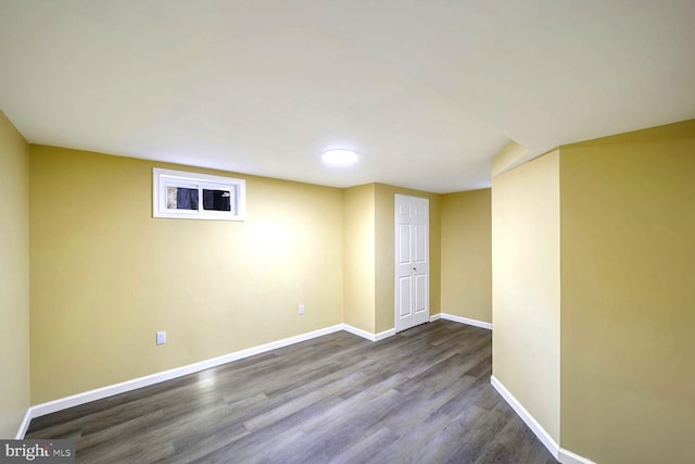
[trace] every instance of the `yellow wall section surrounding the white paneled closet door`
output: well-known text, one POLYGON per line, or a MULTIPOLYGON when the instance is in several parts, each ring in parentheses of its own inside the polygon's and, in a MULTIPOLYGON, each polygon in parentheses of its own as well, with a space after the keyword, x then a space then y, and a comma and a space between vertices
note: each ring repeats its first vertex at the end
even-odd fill
POLYGON ((376 193, 376 330, 392 329, 395 321, 395 201, 396 193, 430 200, 430 314, 441 312, 441 233, 440 195, 384 184, 375 185, 376 193))

